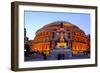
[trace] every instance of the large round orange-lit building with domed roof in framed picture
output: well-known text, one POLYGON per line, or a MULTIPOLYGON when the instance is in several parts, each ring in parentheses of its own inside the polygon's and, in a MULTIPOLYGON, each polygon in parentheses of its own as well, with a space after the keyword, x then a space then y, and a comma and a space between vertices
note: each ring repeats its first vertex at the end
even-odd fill
POLYGON ((85 32, 78 26, 66 21, 55 21, 36 31, 31 49, 49 55, 55 48, 64 48, 70 49, 72 54, 79 54, 90 49, 88 42, 85 32))

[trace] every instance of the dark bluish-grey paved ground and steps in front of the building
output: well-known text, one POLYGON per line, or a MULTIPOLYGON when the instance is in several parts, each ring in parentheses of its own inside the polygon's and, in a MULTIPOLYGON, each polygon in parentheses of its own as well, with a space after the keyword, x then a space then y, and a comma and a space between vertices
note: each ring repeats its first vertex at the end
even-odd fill
POLYGON ((44 54, 36 54, 25 56, 25 61, 46 61, 46 60, 68 60, 68 59, 84 59, 90 58, 89 54, 79 54, 72 56, 70 50, 64 51, 62 50, 53 50, 52 53, 48 56, 44 54), (61 52, 62 51, 62 52, 61 52))

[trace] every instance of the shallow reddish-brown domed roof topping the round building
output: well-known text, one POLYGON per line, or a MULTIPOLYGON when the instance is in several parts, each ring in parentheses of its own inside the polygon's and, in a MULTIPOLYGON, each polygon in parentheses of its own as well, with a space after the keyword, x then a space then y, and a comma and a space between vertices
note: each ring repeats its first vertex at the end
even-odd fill
POLYGON ((49 30, 49 29, 52 30, 52 29, 58 29, 58 28, 74 28, 74 29, 80 30, 79 27, 77 27, 76 25, 74 25, 72 23, 69 23, 66 21, 55 21, 55 22, 52 22, 52 23, 49 23, 49 24, 43 26, 38 31, 43 31, 43 30, 45 31, 45 30, 49 30))

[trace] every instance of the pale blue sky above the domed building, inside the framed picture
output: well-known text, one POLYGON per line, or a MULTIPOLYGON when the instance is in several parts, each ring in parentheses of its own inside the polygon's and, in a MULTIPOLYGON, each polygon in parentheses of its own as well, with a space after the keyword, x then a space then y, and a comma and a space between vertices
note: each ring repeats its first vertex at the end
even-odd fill
POLYGON ((44 25, 54 21, 70 22, 81 28, 86 34, 90 33, 90 14, 64 13, 64 12, 24 12, 26 36, 34 39, 35 32, 44 25))

